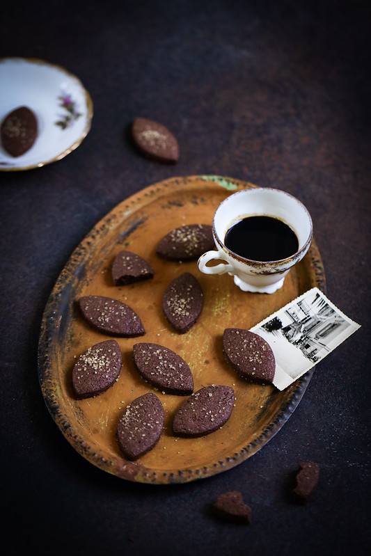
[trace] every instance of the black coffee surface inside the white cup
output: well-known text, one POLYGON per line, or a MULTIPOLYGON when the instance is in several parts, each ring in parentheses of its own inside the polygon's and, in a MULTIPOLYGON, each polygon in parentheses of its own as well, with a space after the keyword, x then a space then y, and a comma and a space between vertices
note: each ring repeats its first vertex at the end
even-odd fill
POLYGON ((232 225, 224 245, 240 257, 254 261, 278 261, 299 248, 295 232, 273 216, 248 216, 232 225))

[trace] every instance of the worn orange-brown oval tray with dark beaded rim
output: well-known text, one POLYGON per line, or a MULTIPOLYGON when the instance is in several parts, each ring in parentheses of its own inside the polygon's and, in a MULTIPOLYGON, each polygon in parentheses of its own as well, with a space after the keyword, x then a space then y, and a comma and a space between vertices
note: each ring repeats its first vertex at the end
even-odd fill
POLYGON ((129 481, 168 484, 189 482, 228 470, 258 452, 281 429, 308 386, 313 370, 280 392, 239 378, 223 358, 221 337, 226 327, 254 324, 307 289, 325 290, 324 269, 313 241, 306 257, 288 273, 283 288, 272 295, 242 292, 232 277, 206 276, 197 263, 166 262, 155 247, 180 225, 212 223, 219 203, 230 193, 253 184, 219 176, 165 180, 121 202, 81 241, 59 276, 45 308, 40 333, 38 372, 42 395, 59 429, 79 454, 98 468, 129 481), (111 280, 113 258, 123 248, 138 253, 155 269, 142 283, 116 287, 111 280), (161 309, 168 283, 184 271, 203 287, 205 305, 191 330, 175 333, 161 309), (81 295, 99 294, 124 301, 138 312, 145 335, 116 338, 123 368, 115 385, 91 399, 72 395, 72 368, 91 345, 108 339, 82 321, 76 307, 81 295), (235 390, 230 420, 201 438, 176 438, 171 422, 184 397, 162 394, 141 379, 132 362, 136 342, 155 342, 187 361, 195 391, 210 384, 235 390), (124 459, 116 443, 116 427, 125 406, 154 391, 165 409, 164 432, 157 446, 136 462, 124 459))

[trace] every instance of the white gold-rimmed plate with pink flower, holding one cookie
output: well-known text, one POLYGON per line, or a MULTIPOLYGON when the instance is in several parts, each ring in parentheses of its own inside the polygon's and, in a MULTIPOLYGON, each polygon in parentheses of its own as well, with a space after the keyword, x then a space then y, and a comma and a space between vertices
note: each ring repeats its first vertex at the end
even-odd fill
POLYGON ((73 74, 31 58, 0 59, 0 122, 27 106, 38 120, 38 136, 20 157, 1 145, 0 170, 29 170, 60 160, 76 149, 90 130, 93 102, 73 74))

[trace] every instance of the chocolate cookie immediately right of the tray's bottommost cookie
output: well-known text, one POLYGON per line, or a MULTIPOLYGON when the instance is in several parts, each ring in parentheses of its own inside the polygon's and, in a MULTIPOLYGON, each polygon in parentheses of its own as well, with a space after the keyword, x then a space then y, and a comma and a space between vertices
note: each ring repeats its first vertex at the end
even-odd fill
POLYGON ((230 386, 205 386, 189 397, 176 411, 173 433, 176 436, 205 436, 225 424, 235 403, 230 386))

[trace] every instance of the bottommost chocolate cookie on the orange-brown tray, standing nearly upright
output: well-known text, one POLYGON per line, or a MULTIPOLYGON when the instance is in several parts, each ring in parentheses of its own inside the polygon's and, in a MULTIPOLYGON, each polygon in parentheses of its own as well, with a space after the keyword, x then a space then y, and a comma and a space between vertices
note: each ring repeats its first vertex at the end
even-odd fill
POLYGON ((148 392, 131 402, 118 422, 120 450, 129 460, 147 454, 159 441, 164 427, 164 408, 159 398, 148 392))

